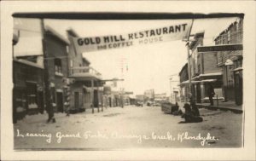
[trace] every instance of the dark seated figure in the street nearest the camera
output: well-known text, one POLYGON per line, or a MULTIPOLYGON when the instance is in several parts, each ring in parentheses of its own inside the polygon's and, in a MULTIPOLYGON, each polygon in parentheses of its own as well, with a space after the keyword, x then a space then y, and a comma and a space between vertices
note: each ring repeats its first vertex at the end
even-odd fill
POLYGON ((186 123, 199 123, 199 122, 202 122, 203 119, 201 117, 199 117, 199 116, 196 116, 194 114, 195 112, 192 112, 192 110, 190 108, 190 105, 188 103, 185 103, 185 105, 183 107, 185 108, 185 113, 183 114, 182 118, 185 119, 186 123))

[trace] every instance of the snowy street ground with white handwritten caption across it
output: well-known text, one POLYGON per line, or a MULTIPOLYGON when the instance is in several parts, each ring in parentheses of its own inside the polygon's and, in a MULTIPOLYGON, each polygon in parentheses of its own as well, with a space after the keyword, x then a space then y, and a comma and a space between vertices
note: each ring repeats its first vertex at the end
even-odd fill
POLYGON ((157 147, 241 147, 242 114, 200 109, 201 123, 161 112, 160 106, 104 108, 67 117, 26 116, 14 125, 15 148, 125 149, 157 147))

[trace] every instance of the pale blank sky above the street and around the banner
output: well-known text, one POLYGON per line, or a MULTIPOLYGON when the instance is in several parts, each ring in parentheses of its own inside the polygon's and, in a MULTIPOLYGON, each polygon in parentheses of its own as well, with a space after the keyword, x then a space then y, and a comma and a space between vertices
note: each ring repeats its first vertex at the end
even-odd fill
MULTIPOLYGON (((194 20, 191 34, 205 32, 204 45, 214 44, 213 38, 227 28, 236 18, 194 20), (217 27, 218 26, 218 27, 217 27)), ((171 26, 191 20, 44 20, 63 37, 72 28, 79 37, 117 35, 157 27, 171 26)), ((15 29, 20 29, 20 42, 15 55, 43 54, 42 46, 36 43, 41 38, 40 21, 15 19, 15 29), (22 41, 21 41, 22 40, 22 41), (31 41, 32 43, 27 43, 31 41)), ((124 78, 125 90, 140 95, 146 89, 170 95, 169 78, 180 72, 187 62, 187 49, 182 40, 152 43, 122 49, 108 49, 84 53, 90 66, 102 73, 102 78, 124 78)))

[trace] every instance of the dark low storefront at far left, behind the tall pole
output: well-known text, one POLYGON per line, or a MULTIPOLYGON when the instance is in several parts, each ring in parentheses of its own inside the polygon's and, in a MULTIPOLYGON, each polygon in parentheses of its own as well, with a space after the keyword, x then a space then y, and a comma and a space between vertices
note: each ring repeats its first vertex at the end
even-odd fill
POLYGON ((13 61, 13 121, 44 112, 44 68, 27 60, 13 61))

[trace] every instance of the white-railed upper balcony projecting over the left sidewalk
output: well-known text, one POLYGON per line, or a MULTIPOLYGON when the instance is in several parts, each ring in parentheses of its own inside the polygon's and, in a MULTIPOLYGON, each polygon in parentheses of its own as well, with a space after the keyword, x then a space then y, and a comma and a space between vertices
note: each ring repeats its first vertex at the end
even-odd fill
POLYGON ((73 67, 69 69, 69 78, 76 80, 102 80, 102 74, 90 66, 73 67))

